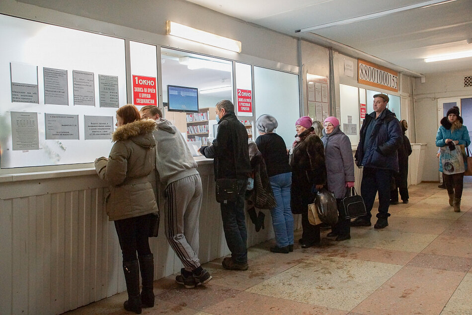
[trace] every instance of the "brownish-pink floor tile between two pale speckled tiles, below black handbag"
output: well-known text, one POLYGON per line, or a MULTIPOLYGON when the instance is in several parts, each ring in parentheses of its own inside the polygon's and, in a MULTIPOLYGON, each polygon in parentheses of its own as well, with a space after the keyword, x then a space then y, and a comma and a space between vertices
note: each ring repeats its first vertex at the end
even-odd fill
POLYGON ((333 246, 319 252, 319 254, 328 257, 360 259, 396 265, 406 265, 417 255, 417 253, 406 251, 348 246, 333 246))

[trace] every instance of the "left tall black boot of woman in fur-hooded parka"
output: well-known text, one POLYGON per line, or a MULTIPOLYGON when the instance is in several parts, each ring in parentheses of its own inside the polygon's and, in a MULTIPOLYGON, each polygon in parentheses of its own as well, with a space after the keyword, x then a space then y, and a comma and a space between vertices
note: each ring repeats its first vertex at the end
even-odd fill
POLYGON ((126 291, 128 301, 123 304, 126 311, 141 314, 141 297, 139 295, 139 265, 138 260, 123 261, 126 291))

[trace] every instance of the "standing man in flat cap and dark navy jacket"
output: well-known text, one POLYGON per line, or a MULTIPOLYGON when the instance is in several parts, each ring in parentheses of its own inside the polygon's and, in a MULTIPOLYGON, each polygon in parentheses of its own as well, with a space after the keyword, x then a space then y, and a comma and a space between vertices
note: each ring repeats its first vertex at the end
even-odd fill
POLYGON ((398 172, 397 150, 402 142, 400 124, 395 114, 387 109, 389 96, 374 95, 374 112, 367 115, 362 124, 360 141, 356 151, 356 164, 364 166, 361 195, 367 215, 351 223, 352 227, 369 227, 375 196, 379 192, 379 213, 375 229, 389 225, 390 181, 398 172))

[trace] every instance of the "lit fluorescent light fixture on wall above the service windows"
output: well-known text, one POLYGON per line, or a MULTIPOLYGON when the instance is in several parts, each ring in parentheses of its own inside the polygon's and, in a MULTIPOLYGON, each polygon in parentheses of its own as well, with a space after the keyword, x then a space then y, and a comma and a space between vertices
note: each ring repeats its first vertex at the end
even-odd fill
POLYGON ((223 37, 220 35, 216 35, 213 33, 208 33, 193 27, 185 26, 182 24, 178 24, 172 21, 166 21, 165 23, 166 34, 177 36, 180 38, 185 38, 194 42, 223 48, 231 51, 235 51, 236 53, 241 52, 241 42, 228 38, 223 37))

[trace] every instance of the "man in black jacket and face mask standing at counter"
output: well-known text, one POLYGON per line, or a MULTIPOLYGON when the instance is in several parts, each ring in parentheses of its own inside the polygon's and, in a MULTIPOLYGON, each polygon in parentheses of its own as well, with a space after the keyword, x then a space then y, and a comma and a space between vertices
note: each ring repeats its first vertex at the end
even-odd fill
POLYGON ((247 132, 235 115, 235 105, 230 100, 216 104, 218 134, 210 147, 203 146, 198 151, 206 158, 214 158, 215 180, 218 178, 237 179, 236 202, 221 203, 221 218, 226 243, 231 257, 226 257, 222 265, 226 269, 247 270, 247 230, 244 217, 244 193, 247 178, 251 172, 247 132))

